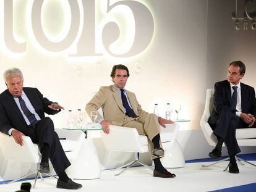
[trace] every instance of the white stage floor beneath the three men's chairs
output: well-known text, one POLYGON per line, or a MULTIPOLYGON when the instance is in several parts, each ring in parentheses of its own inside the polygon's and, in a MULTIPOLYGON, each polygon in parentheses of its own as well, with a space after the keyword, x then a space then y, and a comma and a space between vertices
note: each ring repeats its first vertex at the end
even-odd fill
MULTIPOLYGON (((256 164, 256 161, 250 161, 256 164)), ((223 172, 228 162, 221 162, 213 167, 204 168, 202 165, 210 162, 190 162, 184 168, 168 169, 176 173, 176 178, 155 178, 153 173, 145 167, 132 167, 119 176, 114 171, 103 170, 101 178, 96 180, 75 180, 83 185, 74 191, 256 191, 256 167, 246 164, 239 165, 239 174, 223 172), (250 184, 250 185, 248 185, 250 184), (231 188, 237 186, 235 188, 231 188), (230 189, 229 189, 230 188, 230 189)), ((33 180, 23 180, 31 182, 33 180)), ((14 192, 20 189, 22 182, 0 185, 0 191, 14 192)), ((56 188, 56 179, 45 178, 38 180, 36 188, 31 191, 51 192, 67 191, 56 188)), ((1 182, 2 183, 2 182, 1 182)), ((72 190, 69 190, 72 191, 72 190)))

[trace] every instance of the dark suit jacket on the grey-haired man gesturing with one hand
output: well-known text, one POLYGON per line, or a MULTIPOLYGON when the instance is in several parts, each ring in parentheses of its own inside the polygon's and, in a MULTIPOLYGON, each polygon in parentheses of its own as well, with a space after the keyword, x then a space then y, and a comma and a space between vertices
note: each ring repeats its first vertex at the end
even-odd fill
MULTIPOLYGON (((60 111, 49 109, 48 105, 53 102, 44 98, 38 89, 23 88, 23 91, 41 119, 45 117, 45 112, 47 114, 56 114, 60 111)), ((25 122, 19 107, 14 101, 14 97, 6 90, 0 94, 0 131, 8 134, 11 128, 21 131, 24 135, 29 135, 32 131, 32 128, 29 128, 25 122)))

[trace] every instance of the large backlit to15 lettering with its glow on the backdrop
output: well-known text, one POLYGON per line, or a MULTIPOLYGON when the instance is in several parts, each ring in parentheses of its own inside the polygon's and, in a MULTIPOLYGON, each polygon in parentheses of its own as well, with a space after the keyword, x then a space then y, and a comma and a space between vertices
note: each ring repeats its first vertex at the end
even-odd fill
POLYGON ((145 51, 153 39, 155 26, 147 1, 24 0, 21 38, 15 36, 13 27, 15 0, 2 1, 4 42, 11 52, 25 53, 31 44, 37 50, 69 57, 132 57, 145 51), (63 27, 51 37, 48 29, 54 25, 49 25, 49 15, 58 14, 59 9, 63 17, 57 19, 63 27))

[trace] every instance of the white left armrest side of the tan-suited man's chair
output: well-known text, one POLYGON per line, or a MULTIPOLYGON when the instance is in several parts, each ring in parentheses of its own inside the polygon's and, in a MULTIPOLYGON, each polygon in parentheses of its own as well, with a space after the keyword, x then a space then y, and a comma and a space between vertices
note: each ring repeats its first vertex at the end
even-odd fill
POLYGON ((147 152, 148 145, 144 145, 142 137, 135 128, 109 125, 110 133, 101 131, 101 138, 108 151, 147 152))

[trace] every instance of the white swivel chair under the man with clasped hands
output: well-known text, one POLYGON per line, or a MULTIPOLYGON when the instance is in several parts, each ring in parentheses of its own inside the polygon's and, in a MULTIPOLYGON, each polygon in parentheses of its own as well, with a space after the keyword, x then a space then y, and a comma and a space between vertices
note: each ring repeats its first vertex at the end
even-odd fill
MULTIPOLYGON (((215 147, 217 143, 217 138, 213 134, 213 130, 211 129, 208 119, 210 117, 210 113, 213 111, 213 89, 207 89, 207 95, 205 99, 205 110, 203 111, 202 118, 200 120, 200 125, 203 131, 203 135, 205 136, 208 144, 210 146, 215 147)), ((239 146, 256 146, 256 128, 239 128, 236 129, 236 139, 239 146)), ((241 159, 240 157, 236 157, 237 160, 247 162, 248 164, 254 165, 251 162, 245 161, 244 159, 241 159)), ((203 165, 203 167, 209 167, 214 164, 218 164, 219 162, 228 160, 229 157, 225 159, 221 159, 220 161, 217 161, 210 165, 203 165)), ((228 168, 228 167, 227 167, 228 168)), ((226 168, 226 169, 227 169, 226 168)), ((225 170, 226 170, 225 169, 225 170)))

